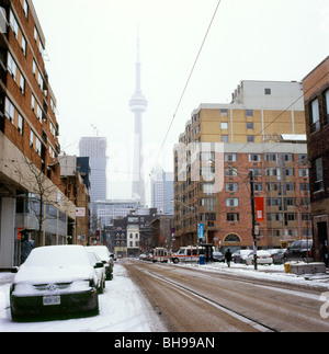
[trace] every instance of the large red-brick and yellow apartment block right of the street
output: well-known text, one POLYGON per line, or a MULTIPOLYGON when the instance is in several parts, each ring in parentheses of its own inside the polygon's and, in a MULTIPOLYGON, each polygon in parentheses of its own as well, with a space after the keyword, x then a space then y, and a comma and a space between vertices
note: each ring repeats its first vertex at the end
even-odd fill
POLYGON ((259 245, 309 237, 304 119, 300 82, 242 81, 230 104, 193 111, 174 148, 175 247, 196 243, 198 224, 206 242, 252 247, 250 171, 259 245))

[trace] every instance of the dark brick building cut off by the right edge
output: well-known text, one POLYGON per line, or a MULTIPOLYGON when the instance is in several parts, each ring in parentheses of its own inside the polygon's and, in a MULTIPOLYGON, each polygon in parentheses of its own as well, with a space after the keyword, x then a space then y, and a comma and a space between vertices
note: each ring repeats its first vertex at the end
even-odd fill
POLYGON ((310 201, 318 261, 329 264, 329 57, 303 80, 310 201))

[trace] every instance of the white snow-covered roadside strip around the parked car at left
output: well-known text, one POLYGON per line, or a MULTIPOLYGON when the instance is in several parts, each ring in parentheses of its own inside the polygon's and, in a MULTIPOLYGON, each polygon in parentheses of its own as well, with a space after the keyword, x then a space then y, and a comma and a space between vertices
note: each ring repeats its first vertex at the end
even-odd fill
POLYGON ((166 329, 127 272, 115 263, 114 278, 100 295, 100 315, 66 320, 13 322, 9 309, 9 281, 0 273, 0 332, 158 332, 166 329))

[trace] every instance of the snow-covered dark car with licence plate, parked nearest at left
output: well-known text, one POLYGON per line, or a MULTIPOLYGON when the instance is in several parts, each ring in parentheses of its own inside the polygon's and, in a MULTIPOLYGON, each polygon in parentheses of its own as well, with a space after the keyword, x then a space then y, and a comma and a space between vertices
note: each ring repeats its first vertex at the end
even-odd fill
POLYGON ((98 276, 82 245, 39 247, 10 287, 13 320, 26 316, 99 312, 98 276))

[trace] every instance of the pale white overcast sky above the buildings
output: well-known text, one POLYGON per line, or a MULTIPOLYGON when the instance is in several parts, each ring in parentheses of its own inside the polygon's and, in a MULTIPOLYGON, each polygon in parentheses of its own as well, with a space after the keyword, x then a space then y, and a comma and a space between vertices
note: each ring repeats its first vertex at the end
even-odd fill
MULTIPOLYGON (((135 91, 137 27, 148 100, 148 175, 218 0, 33 3, 46 37, 63 150, 78 155, 80 137, 106 137, 107 197, 131 198, 134 115, 128 101, 135 91)), ((172 171, 173 145, 201 103, 229 103, 241 80, 300 81, 328 48, 328 0, 222 0, 158 162, 172 171)))

